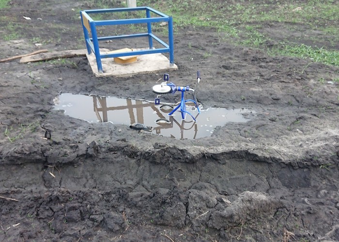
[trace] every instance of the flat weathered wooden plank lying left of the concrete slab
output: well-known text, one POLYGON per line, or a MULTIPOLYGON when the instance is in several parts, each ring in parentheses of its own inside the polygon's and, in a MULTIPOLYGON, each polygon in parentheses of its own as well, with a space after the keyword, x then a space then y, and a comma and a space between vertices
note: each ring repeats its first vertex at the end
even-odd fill
POLYGON ((86 54, 87 54, 86 49, 53 51, 53 52, 40 53, 37 55, 23 57, 20 59, 20 63, 49 61, 49 60, 54 60, 54 59, 59 59, 59 58, 86 56, 86 54))

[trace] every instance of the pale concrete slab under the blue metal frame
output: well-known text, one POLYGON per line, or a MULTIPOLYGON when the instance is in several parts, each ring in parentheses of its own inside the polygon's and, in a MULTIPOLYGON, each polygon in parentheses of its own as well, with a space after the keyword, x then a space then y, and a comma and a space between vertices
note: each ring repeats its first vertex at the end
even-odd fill
POLYGON ((169 59, 161 53, 139 55, 138 61, 130 64, 119 64, 113 58, 101 59, 103 74, 98 72, 94 54, 86 54, 92 72, 95 76, 132 76, 140 73, 161 72, 165 70, 176 70, 177 65, 170 66, 169 59))

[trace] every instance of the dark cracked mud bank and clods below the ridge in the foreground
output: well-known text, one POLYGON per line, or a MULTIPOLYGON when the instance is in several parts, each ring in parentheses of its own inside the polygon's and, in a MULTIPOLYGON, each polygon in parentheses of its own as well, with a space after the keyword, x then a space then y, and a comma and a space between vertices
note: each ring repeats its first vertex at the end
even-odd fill
POLYGON ((169 157, 187 152, 159 144, 153 154, 112 145, 106 155, 94 141, 86 145, 82 159, 73 163, 1 166, 1 196, 16 200, 0 199, 6 221, 0 239, 53 233, 62 240, 160 240, 167 235, 175 241, 265 241, 281 239, 286 231, 311 240, 336 237, 335 172, 294 169, 258 156, 246 159, 245 151, 200 152, 181 162, 169 157))

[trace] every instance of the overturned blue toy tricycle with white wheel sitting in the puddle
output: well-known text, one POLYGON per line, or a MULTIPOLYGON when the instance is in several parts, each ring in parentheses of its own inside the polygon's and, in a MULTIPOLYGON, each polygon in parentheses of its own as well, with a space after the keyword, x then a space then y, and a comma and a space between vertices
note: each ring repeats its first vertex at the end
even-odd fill
MULTIPOLYGON (((200 113, 200 109, 199 109, 199 104, 197 101, 197 97, 196 97, 196 93, 197 93, 197 88, 200 82, 200 71, 197 72, 197 85, 195 87, 195 89, 189 88, 189 86, 176 86, 174 83, 170 82, 168 83, 168 81, 170 80, 170 76, 169 74, 165 74, 164 75, 164 82, 162 82, 161 84, 157 84, 155 86, 152 87, 152 91, 157 93, 157 94, 166 94, 166 93, 172 93, 174 94, 176 91, 181 91, 181 101, 180 104, 178 106, 176 106, 170 113, 169 116, 171 116, 176 110, 178 110, 180 108, 180 112, 181 112, 181 117, 183 120, 185 120, 186 118, 186 114, 189 114, 194 121, 197 121, 195 119, 195 117, 193 117, 193 115, 188 112, 186 110, 186 103, 193 103, 195 105, 195 107, 198 109, 198 112, 200 113), (193 91, 193 100, 192 99, 188 99, 185 100, 185 91, 193 91)), ((157 97, 155 99, 155 105, 160 104, 160 99, 157 97)))

